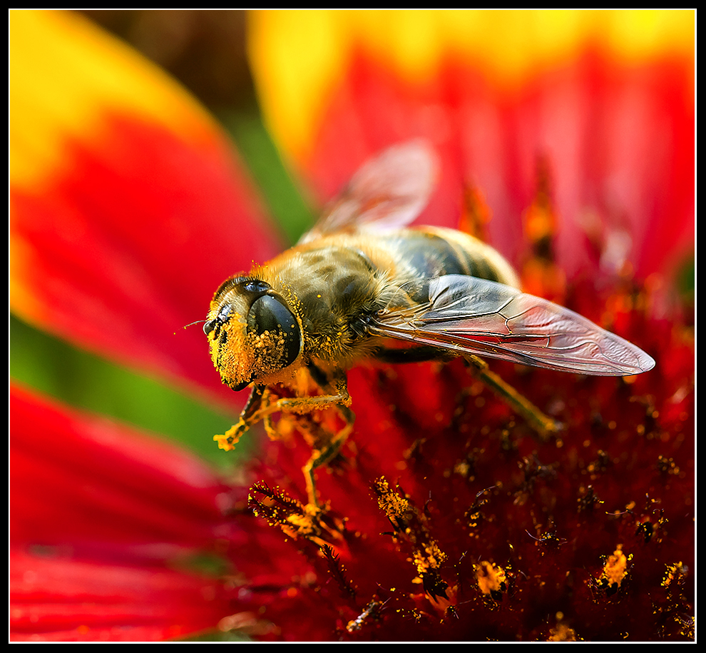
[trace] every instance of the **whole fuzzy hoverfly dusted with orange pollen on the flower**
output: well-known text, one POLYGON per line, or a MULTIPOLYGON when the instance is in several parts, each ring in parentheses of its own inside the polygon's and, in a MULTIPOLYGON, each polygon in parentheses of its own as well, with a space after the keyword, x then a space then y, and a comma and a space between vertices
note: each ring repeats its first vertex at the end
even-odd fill
POLYGON ((230 450, 256 422, 274 435, 273 412, 337 406, 347 426, 314 447, 314 469, 352 429, 346 370, 359 360, 391 363, 462 356, 540 432, 556 425, 479 358, 590 375, 633 375, 655 362, 586 318, 518 290, 493 248, 449 228, 409 224, 436 177, 429 146, 411 141, 366 163, 299 243, 216 291, 204 332, 223 383, 252 386, 239 422, 222 436, 230 450), (395 347, 393 341, 409 343, 395 347), (277 385, 295 396, 277 394, 277 385), (318 388, 312 394, 312 385, 318 388))

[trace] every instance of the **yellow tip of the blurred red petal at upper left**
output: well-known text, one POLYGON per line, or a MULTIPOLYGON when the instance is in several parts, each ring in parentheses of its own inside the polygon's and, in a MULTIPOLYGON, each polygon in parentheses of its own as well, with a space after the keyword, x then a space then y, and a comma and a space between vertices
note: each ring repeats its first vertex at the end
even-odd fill
POLYGON ((10 44, 10 170, 16 188, 40 191, 38 184, 63 172, 69 139, 91 143, 104 136, 106 107, 193 143, 213 138, 211 118, 188 93, 76 14, 11 11, 10 44))

